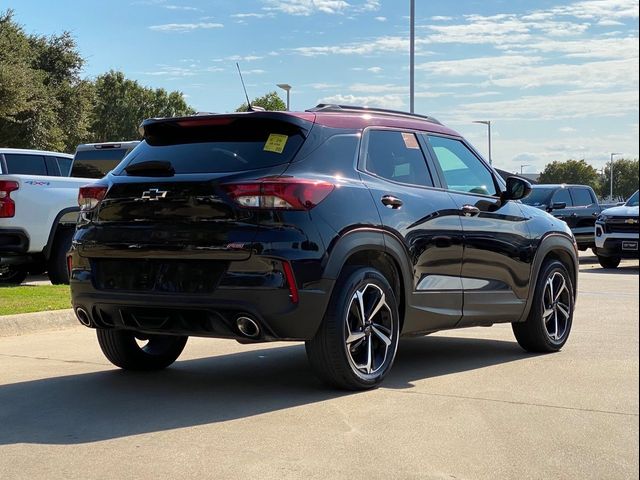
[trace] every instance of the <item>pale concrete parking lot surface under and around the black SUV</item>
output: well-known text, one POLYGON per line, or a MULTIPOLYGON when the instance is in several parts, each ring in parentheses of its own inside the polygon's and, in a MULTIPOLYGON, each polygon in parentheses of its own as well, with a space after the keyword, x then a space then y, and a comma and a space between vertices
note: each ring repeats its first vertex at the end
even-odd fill
POLYGON ((364 393, 300 344, 190 339, 137 374, 83 327, 0 338, 0 478, 638 478, 638 262, 583 256, 579 294, 560 353, 442 332, 364 393))

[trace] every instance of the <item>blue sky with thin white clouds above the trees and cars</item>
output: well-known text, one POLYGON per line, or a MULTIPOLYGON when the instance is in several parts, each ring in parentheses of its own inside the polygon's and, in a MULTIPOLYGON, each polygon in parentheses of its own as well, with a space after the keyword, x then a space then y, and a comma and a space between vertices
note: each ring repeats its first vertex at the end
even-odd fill
MULTIPOLYGON (((291 107, 408 110, 409 0, 0 0, 27 32, 69 30, 84 75, 118 69, 200 111, 289 83, 291 107)), ((416 112, 510 171, 638 156, 638 0, 416 0, 416 112)))

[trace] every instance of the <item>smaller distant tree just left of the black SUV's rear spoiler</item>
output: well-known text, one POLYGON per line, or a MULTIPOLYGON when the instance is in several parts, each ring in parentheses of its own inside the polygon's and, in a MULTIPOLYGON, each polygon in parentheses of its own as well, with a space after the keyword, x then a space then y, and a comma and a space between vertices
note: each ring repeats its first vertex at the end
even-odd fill
POLYGON ((91 136, 94 142, 140 138, 138 127, 146 118, 191 115, 180 92, 143 87, 124 73, 110 71, 95 81, 91 136))

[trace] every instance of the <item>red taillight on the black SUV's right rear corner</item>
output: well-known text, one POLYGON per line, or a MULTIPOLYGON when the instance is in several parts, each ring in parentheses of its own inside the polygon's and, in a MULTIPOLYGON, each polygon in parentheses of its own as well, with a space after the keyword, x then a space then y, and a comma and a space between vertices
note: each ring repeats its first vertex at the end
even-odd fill
POLYGON ((279 178, 227 184, 224 188, 244 208, 310 210, 335 186, 319 180, 279 178))

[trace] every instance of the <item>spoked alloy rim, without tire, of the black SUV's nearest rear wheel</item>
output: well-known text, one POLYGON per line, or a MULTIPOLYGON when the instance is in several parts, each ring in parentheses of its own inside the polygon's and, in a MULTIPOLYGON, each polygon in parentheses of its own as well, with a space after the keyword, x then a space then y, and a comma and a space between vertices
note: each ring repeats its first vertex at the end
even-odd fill
POLYGON ((392 344, 394 318, 384 292, 368 283, 355 291, 345 317, 345 343, 351 365, 361 374, 383 368, 392 344))

